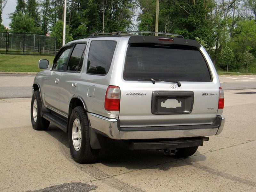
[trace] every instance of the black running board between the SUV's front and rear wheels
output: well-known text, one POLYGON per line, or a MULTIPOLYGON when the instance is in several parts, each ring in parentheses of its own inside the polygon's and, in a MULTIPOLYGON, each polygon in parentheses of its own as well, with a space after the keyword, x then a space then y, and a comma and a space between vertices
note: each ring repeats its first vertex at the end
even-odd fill
POLYGON ((41 116, 62 129, 64 132, 68 132, 68 118, 60 116, 52 111, 50 113, 43 113, 41 116))

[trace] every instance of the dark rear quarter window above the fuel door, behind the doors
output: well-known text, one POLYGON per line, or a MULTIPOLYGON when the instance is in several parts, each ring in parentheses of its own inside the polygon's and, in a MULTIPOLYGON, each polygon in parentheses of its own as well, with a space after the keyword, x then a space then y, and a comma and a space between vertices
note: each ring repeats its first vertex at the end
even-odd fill
POLYGON ((110 68, 115 48, 116 41, 92 41, 87 62, 87 73, 106 75, 110 68))

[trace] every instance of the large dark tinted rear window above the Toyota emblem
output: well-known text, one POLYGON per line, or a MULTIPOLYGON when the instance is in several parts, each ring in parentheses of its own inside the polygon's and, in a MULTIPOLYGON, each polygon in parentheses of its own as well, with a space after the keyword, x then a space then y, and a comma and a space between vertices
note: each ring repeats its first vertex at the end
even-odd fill
POLYGON ((131 45, 127 52, 124 79, 151 78, 163 81, 211 81, 208 66, 197 48, 131 45))

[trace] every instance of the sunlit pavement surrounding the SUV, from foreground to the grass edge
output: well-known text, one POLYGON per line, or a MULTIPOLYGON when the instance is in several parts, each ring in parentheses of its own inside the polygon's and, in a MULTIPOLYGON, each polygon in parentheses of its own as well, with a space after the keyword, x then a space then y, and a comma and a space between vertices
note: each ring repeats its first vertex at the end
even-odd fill
POLYGON ((231 86, 224 91, 224 130, 192 157, 130 151, 120 141, 108 141, 95 164, 74 162, 68 135, 54 125, 33 130, 26 91, 33 78, 0 76, 0 191, 256 191, 255 76, 220 77, 231 86), (238 89, 229 90, 232 86, 238 89))

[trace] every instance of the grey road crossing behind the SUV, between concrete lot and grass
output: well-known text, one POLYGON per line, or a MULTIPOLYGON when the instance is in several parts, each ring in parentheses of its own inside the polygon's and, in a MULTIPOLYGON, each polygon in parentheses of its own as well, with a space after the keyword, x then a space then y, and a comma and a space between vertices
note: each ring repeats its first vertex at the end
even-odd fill
MULTIPOLYGON (((1 98, 28 98, 35 75, 0 74, 1 98)), ((220 76, 223 90, 256 89, 256 76, 220 76)))

